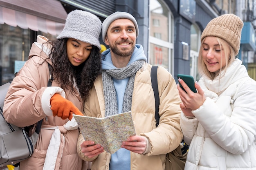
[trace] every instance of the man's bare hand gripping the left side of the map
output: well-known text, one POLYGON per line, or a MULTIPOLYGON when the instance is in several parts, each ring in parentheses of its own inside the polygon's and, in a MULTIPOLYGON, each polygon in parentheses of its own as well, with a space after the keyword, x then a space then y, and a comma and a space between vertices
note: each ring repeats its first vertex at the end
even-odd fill
POLYGON ((100 144, 95 145, 94 141, 84 141, 81 148, 81 152, 88 158, 98 156, 104 152, 104 148, 100 144))

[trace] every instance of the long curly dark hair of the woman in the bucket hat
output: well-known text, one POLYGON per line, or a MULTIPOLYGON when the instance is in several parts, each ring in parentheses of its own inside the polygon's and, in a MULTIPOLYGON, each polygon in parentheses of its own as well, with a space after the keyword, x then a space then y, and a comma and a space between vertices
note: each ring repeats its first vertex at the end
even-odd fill
POLYGON ((74 79, 79 88, 82 99, 86 100, 93 82, 101 74, 101 53, 97 46, 92 46, 90 56, 79 66, 73 66, 67 57, 68 38, 52 41, 52 49, 49 56, 52 56, 52 75, 63 90, 70 89, 75 93, 74 79))

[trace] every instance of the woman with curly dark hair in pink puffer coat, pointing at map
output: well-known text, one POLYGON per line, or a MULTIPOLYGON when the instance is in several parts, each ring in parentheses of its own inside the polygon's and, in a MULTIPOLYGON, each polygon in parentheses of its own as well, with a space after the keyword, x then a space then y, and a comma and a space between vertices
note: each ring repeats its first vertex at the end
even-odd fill
POLYGON ((101 74, 100 32, 96 15, 75 10, 56 40, 38 35, 32 44, 29 60, 7 92, 3 113, 19 127, 43 119, 34 152, 20 162, 20 170, 87 170, 76 151, 79 128, 72 115, 83 115, 83 103, 101 74))

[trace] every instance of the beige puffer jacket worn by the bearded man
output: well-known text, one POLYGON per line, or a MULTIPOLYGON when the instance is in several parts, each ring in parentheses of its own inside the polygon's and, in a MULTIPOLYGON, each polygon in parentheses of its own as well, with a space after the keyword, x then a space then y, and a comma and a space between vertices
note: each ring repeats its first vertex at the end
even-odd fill
MULTIPOLYGON (((151 148, 146 155, 131 152, 131 170, 164 170, 166 153, 171 152, 182 141, 180 129, 180 97, 172 75, 159 66, 157 70, 159 88, 159 126, 155 121, 155 97, 150 79, 151 65, 145 63, 135 75, 132 94, 132 119, 136 135, 149 139, 151 148)), ((102 77, 99 76, 84 105, 84 114, 91 117, 105 116, 102 77)), ((79 136, 78 152, 83 160, 92 161, 92 170, 108 170, 111 155, 106 151, 89 159, 81 152, 83 136, 79 136)))

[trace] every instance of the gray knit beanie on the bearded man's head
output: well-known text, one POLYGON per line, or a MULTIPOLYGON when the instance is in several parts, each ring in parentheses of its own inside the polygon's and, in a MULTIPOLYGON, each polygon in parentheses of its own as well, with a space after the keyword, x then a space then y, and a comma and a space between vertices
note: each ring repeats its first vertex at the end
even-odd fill
POLYGON ((130 13, 117 11, 117 12, 109 15, 102 23, 101 31, 102 31, 103 42, 105 42, 105 37, 106 37, 108 27, 110 26, 110 24, 117 19, 123 19, 123 18, 131 20, 133 22, 133 24, 135 25, 135 29, 136 29, 136 38, 138 37, 139 28, 138 28, 138 24, 137 24, 137 21, 135 20, 135 18, 130 13))

